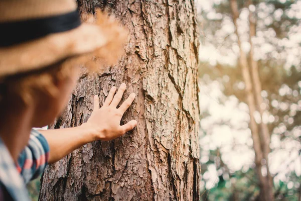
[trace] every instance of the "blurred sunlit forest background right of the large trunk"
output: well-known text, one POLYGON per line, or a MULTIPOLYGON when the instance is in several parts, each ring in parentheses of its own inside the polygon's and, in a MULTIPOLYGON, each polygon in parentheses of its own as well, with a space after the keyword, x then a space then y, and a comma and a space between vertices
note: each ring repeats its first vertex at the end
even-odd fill
POLYGON ((301 200, 301 1, 196 5, 201 199, 301 200))

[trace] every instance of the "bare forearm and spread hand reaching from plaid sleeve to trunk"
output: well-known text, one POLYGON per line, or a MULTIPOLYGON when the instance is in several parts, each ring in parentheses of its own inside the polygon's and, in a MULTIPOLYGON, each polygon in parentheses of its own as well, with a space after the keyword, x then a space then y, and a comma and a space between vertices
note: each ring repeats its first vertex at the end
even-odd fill
POLYGON ((122 126, 120 126, 120 121, 124 112, 132 104, 135 94, 131 93, 123 104, 116 109, 125 88, 126 85, 121 84, 116 95, 114 95, 116 87, 112 87, 101 108, 99 108, 99 98, 95 95, 91 117, 79 127, 40 130, 39 132, 46 138, 50 147, 48 162, 54 163, 86 143, 95 140, 112 140, 132 130, 137 125, 135 120, 122 126))

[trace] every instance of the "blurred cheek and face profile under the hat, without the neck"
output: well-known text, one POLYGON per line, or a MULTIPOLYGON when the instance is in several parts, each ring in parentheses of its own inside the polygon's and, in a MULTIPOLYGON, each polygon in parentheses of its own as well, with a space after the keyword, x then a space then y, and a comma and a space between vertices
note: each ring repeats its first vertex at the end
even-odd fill
POLYGON ((80 68, 74 67, 70 75, 65 79, 54 83, 59 93, 53 97, 50 95, 38 94, 38 104, 36 107, 36 118, 34 119, 34 127, 47 126, 58 117, 65 109, 70 98, 73 88, 76 86, 79 77, 80 68))

